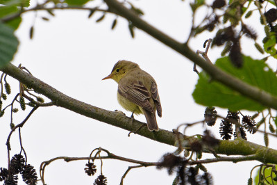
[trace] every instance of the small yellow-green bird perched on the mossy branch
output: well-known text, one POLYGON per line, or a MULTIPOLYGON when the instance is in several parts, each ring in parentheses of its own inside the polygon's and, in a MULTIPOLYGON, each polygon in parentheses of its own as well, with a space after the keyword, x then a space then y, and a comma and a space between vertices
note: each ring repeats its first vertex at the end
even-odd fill
POLYGON ((118 83, 117 100, 127 111, 135 114, 143 113, 150 131, 158 131, 156 120, 162 117, 162 106, 157 83, 150 74, 140 69, 140 66, 130 61, 118 61, 112 72, 105 79, 113 79, 118 83))

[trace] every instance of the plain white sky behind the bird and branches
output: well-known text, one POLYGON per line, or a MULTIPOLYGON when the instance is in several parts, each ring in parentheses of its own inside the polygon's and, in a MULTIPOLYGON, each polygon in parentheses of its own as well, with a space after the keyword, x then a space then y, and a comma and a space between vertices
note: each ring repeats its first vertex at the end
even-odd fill
MULTIPOLYGON (((137 7, 144 10, 143 19, 181 42, 187 39, 191 26, 192 13, 188 2, 134 1, 137 7)), ((124 111, 117 103, 117 83, 101 79, 110 74, 117 61, 133 61, 149 72, 158 83, 162 103, 162 118, 158 118, 161 129, 171 131, 181 123, 203 120, 205 107, 195 104, 192 99, 198 79, 192 71, 192 62, 138 29, 135 29, 135 39, 132 39, 124 19, 119 19, 115 31, 111 31, 114 15, 106 15, 103 22, 96 24, 95 20, 101 13, 95 13, 91 19, 87 19, 88 11, 57 10, 54 13, 56 16, 51 17, 39 12, 37 19, 34 13, 24 15, 24 22, 16 32, 21 43, 12 62, 14 65, 22 63, 35 77, 70 97, 110 111, 124 111), (43 21, 40 19, 42 15, 51 20, 43 21), (34 38, 29 40, 28 31, 34 19, 34 38)), ((202 9, 201 13, 205 16, 206 10, 202 9)), ((191 40, 190 46, 195 51, 203 50, 203 42, 210 37, 210 33, 205 33, 191 40)), ((261 38, 262 35, 259 39, 261 38)), ((253 42, 245 40, 242 48, 246 55, 255 53, 257 58, 261 58, 253 47, 253 42)), ((210 49, 212 61, 219 55, 219 50, 210 49)), ((12 95, 15 95, 18 92, 18 83, 11 77, 8 77, 8 81, 12 86, 12 95)), ((6 102, 11 101, 12 95, 8 96, 6 102)), ((31 108, 27 108, 25 114, 22 114, 19 108, 20 113, 14 114, 15 124, 22 122, 30 110, 31 108)), ((226 110, 218 111, 221 115, 226 115, 226 110)), ((124 113, 131 115, 127 111, 124 113)), ((10 131, 9 119, 10 115, 6 111, 0 122, 1 167, 7 166, 5 144, 10 131)), ((135 116, 135 119, 146 122, 144 115, 135 116)), ((219 123, 218 121, 217 126, 212 127, 217 138, 219 123)), ((11 156, 20 151, 17 133, 18 131, 12 134, 11 156)), ((185 134, 202 133, 202 127, 196 126, 188 129, 185 134)), ((38 108, 22 128, 22 141, 28 163, 35 166, 37 174, 42 161, 56 156, 89 156, 96 147, 141 161, 158 161, 163 154, 176 150, 176 147, 142 136, 127 135, 128 131, 56 106, 38 108)), ((247 136, 249 141, 263 145, 261 134, 247 136)), ((273 140, 270 143, 274 143, 273 140)), ((101 163, 96 161, 97 173, 94 177, 85 174, 85 163, 87 161, 55 161, 46 168, 45 182, 51 185, 92 184, 100 173, 101 163)), ((236 164, 229 162, 205 167, 212 174, 215 184, 246 184, 249 172, 256 164, 258 162, 254 161, 236 164)), ((108 184, 119 184, 128 166, 133 165, 123 161, 104 160, 103 175, 108 178, 108 184)), ((155 167, 136 168, 128 173, 124 184, 171 184, 174 177, 175 174, 169 176, 167 170, 156 170, 155 167)), ((21 179, 19 184, 24 184, 21 179)))

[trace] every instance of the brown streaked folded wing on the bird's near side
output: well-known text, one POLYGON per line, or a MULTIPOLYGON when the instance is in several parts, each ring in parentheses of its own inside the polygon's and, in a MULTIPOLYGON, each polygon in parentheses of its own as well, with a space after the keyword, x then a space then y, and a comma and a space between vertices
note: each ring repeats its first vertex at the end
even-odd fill
POLYGON ((145 110, 154 113, 153 106, 151 106, 149 102, 151 95, 141 81, 131 83, 130 85, 119 83, 118 93, 119 95, 126 97, 126 99, 133 102, 134 104, 137 104, 145 110))

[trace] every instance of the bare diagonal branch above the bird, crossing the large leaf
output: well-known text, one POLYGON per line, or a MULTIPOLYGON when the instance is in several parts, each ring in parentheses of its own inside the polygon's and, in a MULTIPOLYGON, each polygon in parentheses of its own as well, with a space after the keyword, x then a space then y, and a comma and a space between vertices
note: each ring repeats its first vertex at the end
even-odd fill
POLYGON ((249 84, 240 81, 240 79, 237 79, 232 75, 220 70, 215 65, 212 65, 211 63, 203 60, 203 58, 198 56, 196 52, 190 49, 188 43, 183 44, 169 37, 169 35, 162 33, 162 31, 145 22, 132 10, 126 8, 122 3, 119 3, 116 0, 104 1, 107 3, 113 13, 124 17, 128 21, 131 21, 133 25, 136 26, 138 29, 141 29, 142 31, 148 33, 153 38, 156 38, 171 49, 177 51, 179 54, 190 59, 190 61, 196 63, 196 65, 202 67, 205 72, 210 74, 213 80, 219 81, 225 86, 232 88, 233 90, 237 90, 237 92, 241 93, 242 95, 257 101, 264 106, 271 107, 277 110, 277 97, 265 92, 265 90, 260 90, 259 88, 250 86, 249 84))

